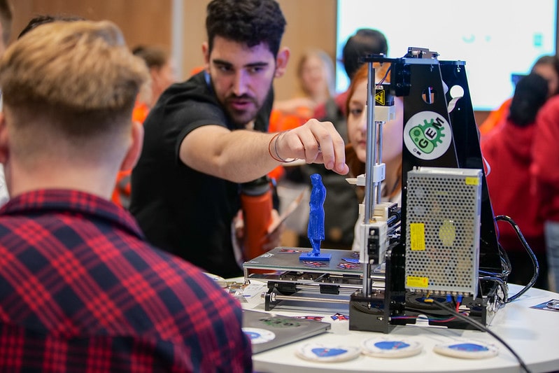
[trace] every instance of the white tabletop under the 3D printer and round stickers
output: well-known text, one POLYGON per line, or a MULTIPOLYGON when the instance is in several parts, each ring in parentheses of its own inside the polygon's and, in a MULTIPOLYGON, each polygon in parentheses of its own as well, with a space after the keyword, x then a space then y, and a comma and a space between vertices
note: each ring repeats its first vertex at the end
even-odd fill
MULTIPOLYGON (((241 281, 241 280, 239 280, 241 281)), ((254 283, 255 280, 253 280, 254 283)), ((510 285, 509 295, 518 293, 520 286, 510 285)), ((518 300, 507 304, 497 312, 490 330, 504 339, 521 356, 531 372, 559 371, 559 312, 531 309, 530 307, 552 299, 559 294, 546 290, 530 289, 518 300)), ((253 302, 244 307, 264 311, 264 304, 253 302)), ((409 358, 374 358, 361 355, 355 360, 342 363, 315 363, 298 358, 295 351, 309 342, 360 346, 369 338, 387 336, 376 332, 349 330, 348 321, 333 321, 330 316, 337 311, 348 314, 345 305, 334 305, 332 309, 309 308, 308 304, 293 304, 276 307, 273 314, 283 316, 325 316, 330 322, 330 332, 303 339, 286 346, 257 353, 253 356, 257 372, 521 372, 514 355, 497 339, 486 332, 446 328, 397 326, 390 337, 413 339, 423 345, 423 351, 409 358), (304 307, 307 307, 306 309, 304 307), (345 308, 344 308, 345 307, 345 308), (497 356, 479 360, 467 360, 442 356, 433 351, 433 346, 449 342, 475 340, 493 344, 499 349, 497 356)))

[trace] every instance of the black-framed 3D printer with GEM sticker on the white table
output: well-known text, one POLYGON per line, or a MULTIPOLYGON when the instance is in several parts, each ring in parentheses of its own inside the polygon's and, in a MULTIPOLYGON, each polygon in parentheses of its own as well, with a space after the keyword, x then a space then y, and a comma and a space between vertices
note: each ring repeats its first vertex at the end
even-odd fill
POLYGON ((268 283, 267 310, 310 289, 320 296, 297 300, 348 303, 350 329, 390 332, 420 317, 448 328, 472 328, 472 320, 487 325, 507 302, 507 266, 497 242, 465 62, 437 57, 409 48, 402 58, 365 59, 367 102, 375 102, 381 91, 382 97, 404 101, 401 209, 376 197, 384 167, 376 144, 379 122, 391 115, 388 98, 367 105, 367 173, 357 180, 365 186, 359 258, 324 250, 332 260, 309 267, 292 255, 299 248, 275 248, 245 262, 247 280, 268 283), (374 62, 390 63, 390 85, 374 82, 374 62), (253 269, 274 273, 251 274, 253 269))

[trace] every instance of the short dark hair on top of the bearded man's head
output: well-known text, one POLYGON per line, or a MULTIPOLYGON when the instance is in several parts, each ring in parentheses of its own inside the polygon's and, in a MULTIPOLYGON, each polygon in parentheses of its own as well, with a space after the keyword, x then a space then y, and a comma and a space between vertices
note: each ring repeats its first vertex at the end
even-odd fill
POLYGON ((274 0, 212 0, 208 3, 206 31, 208 49, 215 36, 246 44, 266 43, 274 57, 285 30, 285 18, 274 0))

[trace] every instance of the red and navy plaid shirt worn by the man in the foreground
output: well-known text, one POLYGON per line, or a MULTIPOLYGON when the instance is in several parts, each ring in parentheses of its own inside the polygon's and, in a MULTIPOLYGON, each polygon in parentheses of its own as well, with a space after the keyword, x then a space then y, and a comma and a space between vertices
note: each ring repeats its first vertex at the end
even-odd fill
POLYGON ((241 308, 84 192, 0 210, 1 372, 250 372, 241 308))

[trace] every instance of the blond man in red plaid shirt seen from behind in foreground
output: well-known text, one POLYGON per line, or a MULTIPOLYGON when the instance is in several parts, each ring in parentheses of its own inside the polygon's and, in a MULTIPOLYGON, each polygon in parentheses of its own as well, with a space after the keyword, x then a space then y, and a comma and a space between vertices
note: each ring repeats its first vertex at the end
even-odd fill
POLYGON ((250 372, 238 302, 111 203, 147 79, 111 22, 53 22, 0 63, 0 371, 250 372))

